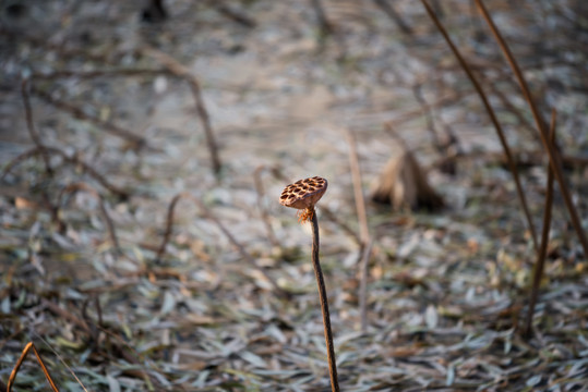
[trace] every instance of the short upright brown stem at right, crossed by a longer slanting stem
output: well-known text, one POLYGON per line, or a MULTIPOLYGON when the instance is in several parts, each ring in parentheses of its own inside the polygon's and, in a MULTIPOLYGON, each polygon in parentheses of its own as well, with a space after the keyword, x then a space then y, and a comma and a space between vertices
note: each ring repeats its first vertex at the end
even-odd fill
MULTIPOLYGON (((555 110, 551 112, 551 125, 550 125, 550 143, 555 144, 555 110)), ((535 305, 537 304, 537 296, 539 295, 539 285, 541 284, 541 278, 543 277, 543 269, 545 265, 545 256, 548 253, 549 242, 549 229, 551 226, 551 209, 553 206, 553 169, 548 166, 548 191, 545 194, 545 207, 543 208, 543 231, 541 232, 541 247, 539 248, 539 255, 537 256, 537 264, 535 265, 531 293, 529 298, 529 313, 527 314, 527 323, 525 326, 525 335, 531 336, 532 329, 532 316, 535 314, 535 305)))

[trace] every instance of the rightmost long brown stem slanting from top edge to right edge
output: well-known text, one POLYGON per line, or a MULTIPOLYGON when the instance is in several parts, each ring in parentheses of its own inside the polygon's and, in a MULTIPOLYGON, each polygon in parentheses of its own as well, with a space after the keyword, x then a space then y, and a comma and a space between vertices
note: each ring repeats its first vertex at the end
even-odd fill
POLYGON ((532 113, 535 123, 537 125, 537 128, 539 130, 539 136, 541 136, 541 142, 543 143, 543 147, 545 148, 545 151, 548 152, 549 161, 550 161, 551 168, 553 169, 553 174, 555 176, 555 180, 557 180, 557 183, 560 184, 560 189, 562 191, 562 196, 564 198, 565 206, 567 207, 569 217, 572 218, 572 224, 574 225, 574 229, 576 230, 576 233, 578 234, 578 238, 580 241, 581 247, 584 248, 584 257, 588 257, 588 240, 586 238, 584 229, 578 218, 578 213, 576 211, 576 207, 574 206, 574 203, 572 201, 572 196, 569 195, 567 184, 565 183, 565 177, 561 168, 561 159, 559 158, 557 150, 555 149, 554 146, 552 146, 549 143, 549 135, 545 130, 545 124, 543 123, 541 117, 539 115, 539 110, 537 109, 537 106, 535 105, 535 100, 532 99, 529 87, 527 86, 527 82, 525 77, 523 76, 523 73, 520 72, 518 63, 516 62, 513 53, 511 52, 511 49, 508 49, 506 41, 504 40, 499 29, 496 28, 494 21, 492 21, 492 17, 488 13, 488 10, 485 9, 482 1, 476 0, 476 4, 478 5, 478 9, 480 10, 485 22, 490 26, 490 29, 492 30, 494 38, 499 42, 504 53, 504 57, 506 58, 506 60, 508 61, 508 64, 511 65, 511 69, 515 73, 515 76, 518 81, 520 89, 523 90, 523 95, 525 96, 525 99, 527 100, 527 102, 529 103, 529 107, 531 108, 531 113, 532 113))

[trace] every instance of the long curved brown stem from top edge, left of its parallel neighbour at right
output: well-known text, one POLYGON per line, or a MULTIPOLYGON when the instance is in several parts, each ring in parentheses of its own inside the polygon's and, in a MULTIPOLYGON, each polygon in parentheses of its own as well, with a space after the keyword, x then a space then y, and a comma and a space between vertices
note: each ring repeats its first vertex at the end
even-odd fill
POLYGON ((513 155, 511 154, 511 148, 508 147, 508 143, 506 142, 506 137, 504 136, 504 132, 502 131, 502 126, 499 123, 496 114, 494 113, 494 110, 490 106, 490 102, 489 102, 489 100, 488 100, 488 98, 487 98, 480 83, 478 82, 478 79, 473 75, 473 72, 469 68, 468 63, 466 62, 466 60, 464 59, 464 57, 461 56, 461 53, 459 52, 457 47, 453 44, 452 39, 449 38, 449 35, 447 34, 447 32, 445 30, 445 27, 443 27, 443 25, 441 24, 441 22, 436 17, 436 15, 433 12, 433 9, 431 8, 431 5, 429 5, 427 0, 421 0, 421 2, 424 5, 429 16, 431 16, 431 20, 433 20, 433 23, 436 25, 436 27, 439 28, 439 30, 443 35, 443 38, 445 38, 445 41, 447 42, 447 45, 452 49, 453 53, 457 58, 457 61, 459 61, 459 64, 461 65, 461 68, 466 72, 466 74, 468 75, 469 79, 471 81, 471 84, 473 84, 473 87, 476 88, 476 91, 480 96, 480 99, 482 100, 482 103, 483 103, 488 114, 490 115, 490 120, 492 121, 492 124, 496 128, 499 139, 500 139, 502 148, 504 150, 504 155, 506 156, 506 159, 508 160, 508 168, 511 170, 511 173, 513 174, 513 179, 515 180, 517 195, 518 195, 518 198, 520 200, 523 211, 525 212, 525 218, 527 219, 527 225, 528 225, 529 231, 531 233, 531 240, 532 240, 532 243, 533 243, 533 247, 535 247, 536 252, 538 252, 539 250, 539 245, 538 245, 538 242, 537 242, 537 235, 536 235, 536 232, 535 232, 535 225, 532 224, 531 213, 529 212, 529 208, 527 207, 527 198, 525 197, 525 192, 523 189, 523 186, 520 185, 520 180, 518 177, 518 171, 517 171, 517 168, 516 168, 515 159, 514 159, 513 155))

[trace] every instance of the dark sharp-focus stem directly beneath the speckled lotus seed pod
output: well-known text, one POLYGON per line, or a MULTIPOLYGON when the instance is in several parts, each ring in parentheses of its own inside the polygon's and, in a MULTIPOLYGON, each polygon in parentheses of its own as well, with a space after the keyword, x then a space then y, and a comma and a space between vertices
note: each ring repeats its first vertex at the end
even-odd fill
POLYGON ((339 392, 339 382, 337 381, 337 363, 335 359, 335 345, 333 344, 333 332, 331 331, 331 317, 328 314, 328 299, 326 297, 325 281, 323 279, 323 270, 319 260, 319 219, 314 207, 312 207, 312 266, 314 267, 314 275, 319 285, 319 297, 321 298, 321 311, 323 313, 323 324, 325 328, 326 354, 328 359, 328 376, 331 377, 331 389, 333 392, 339 392))

